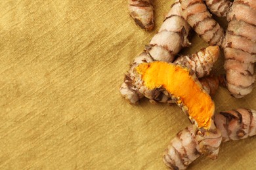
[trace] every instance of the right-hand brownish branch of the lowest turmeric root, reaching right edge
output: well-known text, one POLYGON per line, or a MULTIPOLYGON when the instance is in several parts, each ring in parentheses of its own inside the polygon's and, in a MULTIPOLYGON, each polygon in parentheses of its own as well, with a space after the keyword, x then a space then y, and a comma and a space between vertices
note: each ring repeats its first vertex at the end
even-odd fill
POLYGON ((239 140, 256 135, 256 111, 236 109, 215 114, 215 124, 223 134, 223 141, 239 140))

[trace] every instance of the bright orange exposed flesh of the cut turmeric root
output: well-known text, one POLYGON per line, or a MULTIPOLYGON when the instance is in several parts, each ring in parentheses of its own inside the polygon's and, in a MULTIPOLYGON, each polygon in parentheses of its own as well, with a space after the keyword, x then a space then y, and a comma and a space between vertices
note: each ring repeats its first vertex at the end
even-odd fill
POLYGON ((148 89, 162 87, 171 95, 180 97, 177 103, 183 103, 188 108, 189 116, 196 120, 198 127, 209 129, 215 105, 209 94, 189 74, 188 69, 156 61, 141 63, 136 71, 148 89))

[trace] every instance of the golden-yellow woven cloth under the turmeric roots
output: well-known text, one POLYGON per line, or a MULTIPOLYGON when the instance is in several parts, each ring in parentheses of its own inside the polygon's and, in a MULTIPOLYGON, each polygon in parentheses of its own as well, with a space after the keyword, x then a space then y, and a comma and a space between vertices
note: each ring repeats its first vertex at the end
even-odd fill
MULTIPOLYGON (((129 105, 119 86, 172 1, 156 1, 145 32, 127 0, 0 1, 0 169, 165 169, 163 150, 190 124, 177 106, 129 105)), ((182 54, 207 46, 196 35, 182 54)), ((223 57, 214 71, 223 73, 223 57)), ((216 111, 256 109, 256 89, 216 111)), ((190 169, 255 169, 256 138, 224 143, 190 169)))

